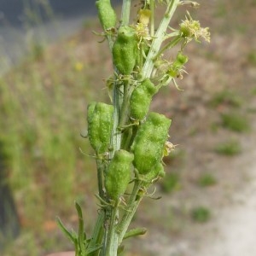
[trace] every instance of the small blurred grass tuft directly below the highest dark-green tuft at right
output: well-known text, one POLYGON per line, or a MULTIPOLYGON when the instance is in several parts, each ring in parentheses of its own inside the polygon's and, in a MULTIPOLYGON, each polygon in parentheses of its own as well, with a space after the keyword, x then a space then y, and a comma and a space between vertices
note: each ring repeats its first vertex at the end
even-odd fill
POLYGON ((224 155, 236 155, 241 153, 241 144, 234 140, 230 139, 225 141, 224 143, 219 143, 215 148, 214 151, 218 154, 224 155))

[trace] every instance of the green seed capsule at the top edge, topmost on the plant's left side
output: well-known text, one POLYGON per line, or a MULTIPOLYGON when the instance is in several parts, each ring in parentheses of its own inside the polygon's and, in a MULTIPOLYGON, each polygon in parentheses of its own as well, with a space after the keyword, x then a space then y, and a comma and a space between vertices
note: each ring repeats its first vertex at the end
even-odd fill
POLYGON ((104 30, 116 25, 117 18, 110 0, 96 1, 96 8, 98 9, 99 20, 101 21, 104 30))

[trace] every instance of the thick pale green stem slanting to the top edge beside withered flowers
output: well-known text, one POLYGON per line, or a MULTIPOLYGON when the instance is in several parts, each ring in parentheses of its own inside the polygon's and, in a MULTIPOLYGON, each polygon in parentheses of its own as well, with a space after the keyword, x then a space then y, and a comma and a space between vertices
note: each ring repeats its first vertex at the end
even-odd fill
POLYGON ((179 2, 180 0, 171 0, 170 3, 168 3, 164 18, 160 22, 160 26, 154 35, 154 40, 148 52, 148 57, 145 61, 142 71, 143 78, 150 78, 151 76, 151 73, 154 68, 154 57, 160 50, 160 46, 166 36, 166 30, 170 24, 170 21, 172 20, 172 15, 174 14, 174 11, 177 9, 177 5, 179 2))

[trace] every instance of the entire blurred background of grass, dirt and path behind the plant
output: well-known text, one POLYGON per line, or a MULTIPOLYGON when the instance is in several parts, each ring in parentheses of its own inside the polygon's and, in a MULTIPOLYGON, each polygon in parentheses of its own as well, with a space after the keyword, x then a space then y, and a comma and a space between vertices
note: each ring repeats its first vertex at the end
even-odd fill
MULTIPOLYGON (((161 199, 145 198, 134 219, 148 233, 125 243, 126 256, 256 255, 256 1, 199 2, 187 8, 212 42, 191 43, 182 90, 154 98, 177 149, 155 187, 161 199)), ((74 201, 90 233, 96 166, 80 133, 88 102, 109 102, 113 73, 93 32, 95 1, 0 0, 0 255, 73 250, 55 216, 76 230, 74 201)))

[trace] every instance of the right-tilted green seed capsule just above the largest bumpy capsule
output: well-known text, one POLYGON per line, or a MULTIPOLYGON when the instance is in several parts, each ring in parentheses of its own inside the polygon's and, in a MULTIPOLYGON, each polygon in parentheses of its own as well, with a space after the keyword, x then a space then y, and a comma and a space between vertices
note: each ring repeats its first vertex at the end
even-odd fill
POLYGON ((152 97, 156 92, 157 88, 150 79, 145 79, 133 90, 130 100, 131 118, 141 120, 146 116, 152 97))

